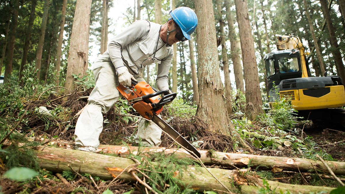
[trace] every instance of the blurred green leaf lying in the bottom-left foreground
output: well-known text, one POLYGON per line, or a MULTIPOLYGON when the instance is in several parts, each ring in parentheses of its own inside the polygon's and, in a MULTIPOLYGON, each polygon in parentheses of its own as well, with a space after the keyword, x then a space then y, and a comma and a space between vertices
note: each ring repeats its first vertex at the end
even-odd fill
POLYGON ((38 172, 34 171, 31 168, 15 167, 9 169, 5 174, 3 174, 3 177, 9 178, 14 181, 25 181, 38 175, 38 172))

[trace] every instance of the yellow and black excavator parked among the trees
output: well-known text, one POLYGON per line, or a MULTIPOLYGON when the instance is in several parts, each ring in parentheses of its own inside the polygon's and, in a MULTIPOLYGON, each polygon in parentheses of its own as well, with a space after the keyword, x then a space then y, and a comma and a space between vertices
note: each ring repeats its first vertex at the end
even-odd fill
POLYGON ((327 72, 312 77, 308 54, 297 36, 277 36, 277 51, 264 57, 269 105, 285 98, 305 119, 330 119, 345 126, 345 109, 336 108, 345 106, 343 80, 327 72))

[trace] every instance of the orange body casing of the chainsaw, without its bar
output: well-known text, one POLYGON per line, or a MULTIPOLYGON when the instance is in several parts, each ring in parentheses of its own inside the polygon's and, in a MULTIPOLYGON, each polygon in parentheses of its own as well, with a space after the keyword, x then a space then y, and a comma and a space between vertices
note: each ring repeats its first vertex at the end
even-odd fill
MULTIPOLYGON (((136 85, 132 85, 131 88, 126 88, 125 86, 118 85, 117 90, 124 96, 129 102, 132 99, 139 98, 148 94, 155 93, 155 91, 152 89, 152 87, 145 83, 144 81, 139 82, 136 85)), ((160 96, 154 96, 149 98, 149 101, 151 103, 159 103, 160 96)), ((163 110, 163 107, 160 109, 154 111, 151 103, 146 103, 143 100, 136 101, 132 104, 132 107, 144 118, 151 119, 153 116, 153 113, 156 113, 157 115, 163 110)))

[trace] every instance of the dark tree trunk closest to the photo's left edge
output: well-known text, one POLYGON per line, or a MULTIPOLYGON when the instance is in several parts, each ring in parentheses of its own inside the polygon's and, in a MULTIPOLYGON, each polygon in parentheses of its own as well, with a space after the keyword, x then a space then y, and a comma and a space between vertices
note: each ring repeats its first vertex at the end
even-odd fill
POLYGON ((13 52, 14 52, 14 43, 16 41, 16 31, 17 31, 17 23, 18 23, 18 12, 19 12, 19 0, 13 0, 13 13, 12 13, 12 21, 11 21, 11 31, 9 33, 9 42, 8 42, 8 50, 7 50, 7 62, 5 65, 5 75, 3 83, 6 84, 12 74, 12 64, 13 64, 13 52))

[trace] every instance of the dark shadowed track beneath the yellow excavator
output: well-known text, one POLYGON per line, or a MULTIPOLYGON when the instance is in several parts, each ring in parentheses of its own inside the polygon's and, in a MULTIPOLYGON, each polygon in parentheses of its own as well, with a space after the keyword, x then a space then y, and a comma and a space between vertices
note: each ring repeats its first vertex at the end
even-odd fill
POLYGON ((343 108, 299 110, 297 116, 302 117, 300 120, 338 124, 345 127, 345 109, 343 108))

